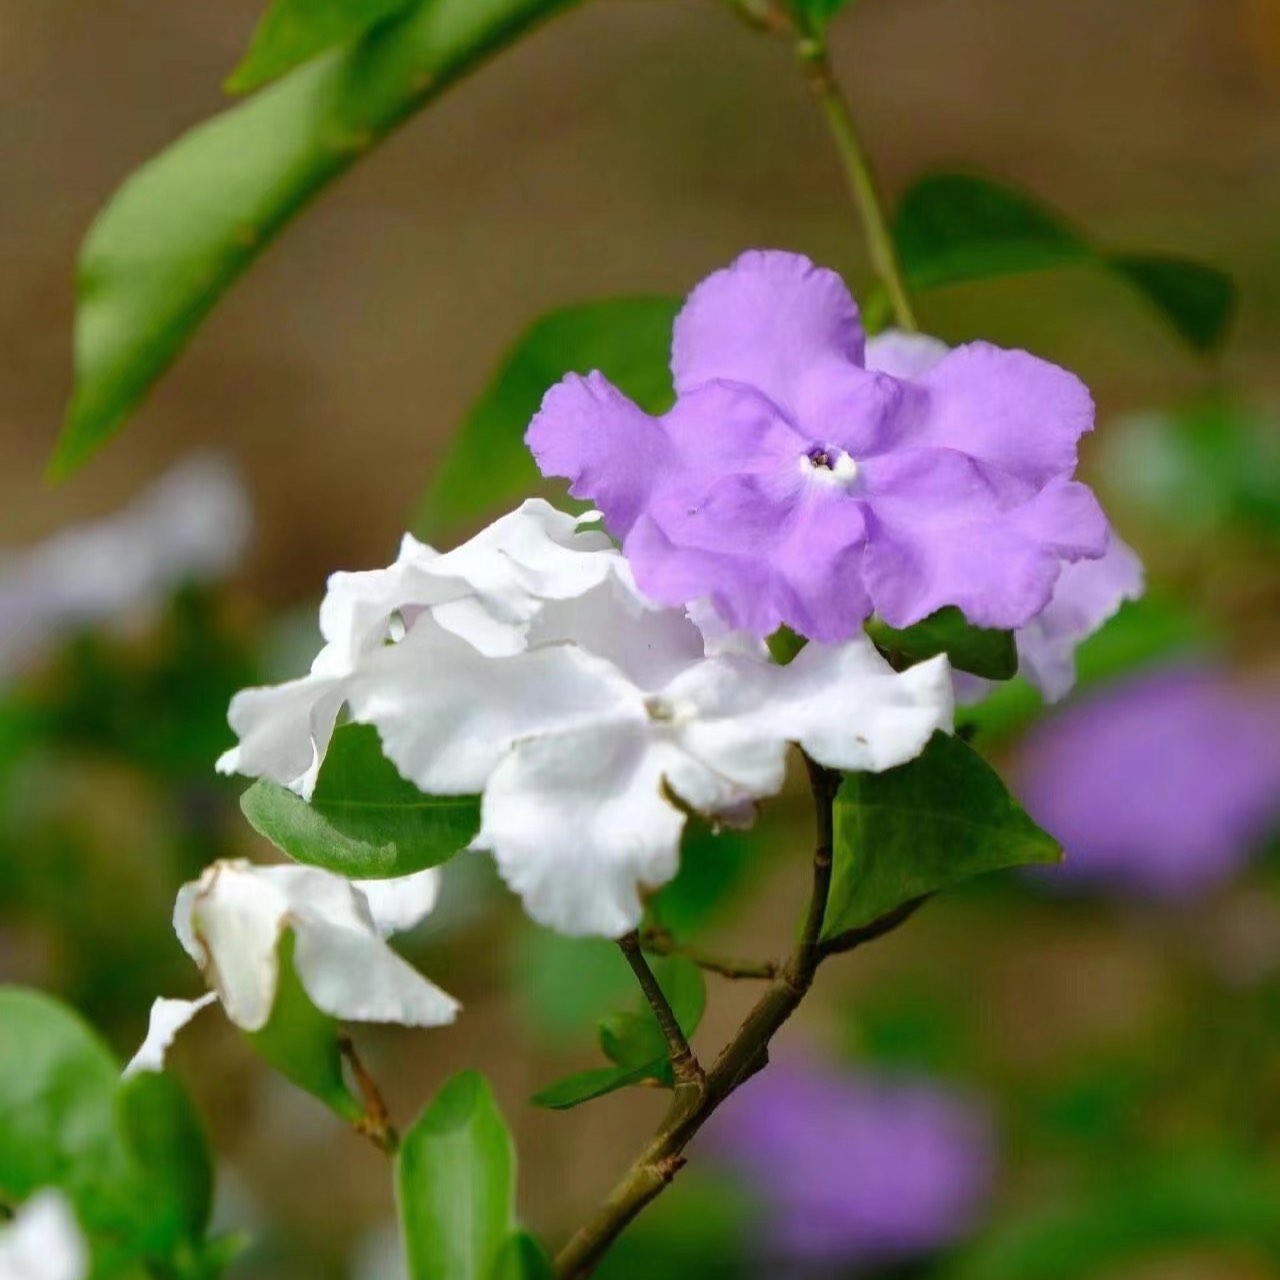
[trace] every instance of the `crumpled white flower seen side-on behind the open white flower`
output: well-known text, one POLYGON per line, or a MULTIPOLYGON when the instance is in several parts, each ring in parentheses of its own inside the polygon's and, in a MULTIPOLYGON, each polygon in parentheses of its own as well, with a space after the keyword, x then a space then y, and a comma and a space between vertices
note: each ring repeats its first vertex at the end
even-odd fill
POLYGON ((320 607, 325 645, 311 672, 236 696, 229 719, 239 745, 218 768, 271 778, 310 797, 364 659, 424 613, 480 653, 520 652, 547 602, 580 595, 626 572, 609 539, 582 527, 593 520, 530 499, 445 554, 406 534, 388 568, 334 573, 320 607))

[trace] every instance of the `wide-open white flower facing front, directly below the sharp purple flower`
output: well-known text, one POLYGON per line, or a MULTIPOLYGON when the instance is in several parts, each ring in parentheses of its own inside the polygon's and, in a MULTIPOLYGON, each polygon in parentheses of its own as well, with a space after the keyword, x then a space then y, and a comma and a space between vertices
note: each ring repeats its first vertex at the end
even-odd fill
POLYGON ((946 659, 897 675, 865 637, 787 667, 708 655, 682 613, 626 579, 544 608, 526 652, 486 658, 430 620, 362 666, 352 716, 433 795, 484 792, 474 847, 534 919, 571 934, 635 928, 675 876, 685 812, 739 815, 776 792, 787 746, 886 769, 950 728, 946 659))

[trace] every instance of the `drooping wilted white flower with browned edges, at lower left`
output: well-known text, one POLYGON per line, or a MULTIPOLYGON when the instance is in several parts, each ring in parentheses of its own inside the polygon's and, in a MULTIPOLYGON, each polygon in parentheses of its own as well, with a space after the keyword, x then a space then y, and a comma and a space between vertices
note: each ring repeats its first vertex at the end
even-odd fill
POLYGON ((221 1002, 247 1032, 266 1025, 279 980, 279 942, 294 937, 298 980, 323 1012, 347 1021, 439 1027, 457 1001, 428 982, 384 938, 434 906, 438 872, 352 882, 314 867, 221 861, 178 891, 173 925, 212 991, 198 1000, 157 1000, 146 1041, 125 1068, 159 1071, 174 1036, 221 1002))

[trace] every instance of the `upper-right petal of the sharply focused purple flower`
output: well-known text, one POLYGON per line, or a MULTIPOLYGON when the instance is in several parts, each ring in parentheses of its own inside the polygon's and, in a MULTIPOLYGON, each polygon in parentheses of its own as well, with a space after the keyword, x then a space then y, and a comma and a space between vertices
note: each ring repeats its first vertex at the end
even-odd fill
POLYGON ((1093 428, 1084 383, 1025 351, 973 342, 920 385, 929 412, 913 443, 960 449, 1037 485, 1075 470, 1076 443, 1093 428))

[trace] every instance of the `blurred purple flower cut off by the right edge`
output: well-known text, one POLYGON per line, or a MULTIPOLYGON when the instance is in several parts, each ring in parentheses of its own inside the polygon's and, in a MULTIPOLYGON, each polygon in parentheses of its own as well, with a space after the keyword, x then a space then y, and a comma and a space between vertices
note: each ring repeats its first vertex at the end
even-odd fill
POLYGON ((1280 822, 1280 694, 1210 668, 1143 675, 1042 724, 1016 788, 1066 850, 1052 881, 1192 897, 1280 822))

